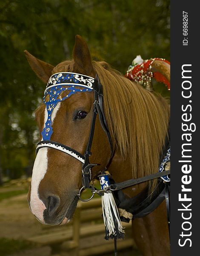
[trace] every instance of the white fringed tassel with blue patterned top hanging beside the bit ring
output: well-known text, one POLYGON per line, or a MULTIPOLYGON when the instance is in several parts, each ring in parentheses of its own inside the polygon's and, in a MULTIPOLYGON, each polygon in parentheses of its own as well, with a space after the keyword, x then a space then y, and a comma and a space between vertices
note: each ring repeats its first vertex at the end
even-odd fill
MULTIPOLYGON (((105 189, 109 184, 109 175, 100 175, 101 189, 105 189)), ((106 236, 105 239, 124 238, 124 230, 120 221, 120 215, 114 201, 112 192, 104 192, 102 198, 103 221, 105 224, 106 236)))

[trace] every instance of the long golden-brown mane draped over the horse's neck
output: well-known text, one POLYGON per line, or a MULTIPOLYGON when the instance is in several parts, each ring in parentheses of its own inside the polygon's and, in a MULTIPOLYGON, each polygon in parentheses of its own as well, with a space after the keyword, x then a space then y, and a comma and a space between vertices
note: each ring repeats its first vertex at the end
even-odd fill
MULTIPOLYGON (((74 61, 64 61, 52 73, 72 72, 74 61)), ((114 147, 131 162, 132 177, 158 172, 160 154, 169 125, 169 104, 141 85, 113 70, 106 62, 93 61, 103 85, 103 106, 114 147)), ((151 184, 154 188, 156 180, 151 184)))

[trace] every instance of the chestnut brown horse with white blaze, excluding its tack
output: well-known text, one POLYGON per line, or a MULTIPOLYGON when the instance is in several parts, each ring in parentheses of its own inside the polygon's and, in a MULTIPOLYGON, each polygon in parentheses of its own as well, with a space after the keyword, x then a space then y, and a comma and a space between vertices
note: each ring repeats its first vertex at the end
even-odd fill
MULTIPOLYGON (((91 147, 92 179, 107 166, 115 182, 156 173, 169 124, 169 105, 161 96, 131 82, 106 62, 91 61, 86 42, 76 36, 73 60, 56 67, 25 51, 36 75, 45 83, 55 73, 98 75, 103 86, 103 108, 114 148, 110 160, 109 140, 96 120, 91 147)), ((63 92, 63 96, 66 96, 63 92)), ((57 104, 52 112, 51 140, 69 145, 84 154, 89 140, 94 94, 77 92, 57 104)), ((40 134, 48 118, 46 106, 35 111, 40 134)), ((42 137, 40 137, 42 139, 42 137)), ((43 224, 68 223, 82 187, 81 162, 54 148, 41 148, 34 162, 28 201, 31 212, 43 224)), ((127 198, 144 187, 152 191, 154 182, 123 189, 127 198)), ((165 202, 144 218, 132 221, 134 240, 144 256, 169 256, 169 232, 165 202)))

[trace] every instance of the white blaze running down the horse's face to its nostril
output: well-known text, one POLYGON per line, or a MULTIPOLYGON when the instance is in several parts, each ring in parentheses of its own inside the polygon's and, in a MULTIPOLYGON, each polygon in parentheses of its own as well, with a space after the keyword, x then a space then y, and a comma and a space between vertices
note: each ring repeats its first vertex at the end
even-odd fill
MULTIPOLYGON (((54 108, 54 111, 51 114, 51 120, 54 121, 56 117, 56 113, 60 108, 60 102, 54 108)), ((44 117, 44 124, 48 118, 48 113, 45 108, 45 117, 44 117)), ((47 172, 48 168, 48 158, 47 158, 48 148, 40 148, 35 158, 34 166, 33 166, 33 173, 31 178, 31 195, 30 195, 30 208, 31 212, 37 217, 37 219, 45 223, 43 218, 43 212, 46 209, 45 204, 39 198, 38 188, 40 185, 40 181, 43 179, 47 172)))

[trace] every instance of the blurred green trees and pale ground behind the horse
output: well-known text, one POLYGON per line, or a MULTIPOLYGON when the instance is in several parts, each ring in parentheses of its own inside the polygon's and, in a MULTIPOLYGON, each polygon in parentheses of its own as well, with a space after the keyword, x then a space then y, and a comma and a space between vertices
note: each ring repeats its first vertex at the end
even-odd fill
MULTIPOLYGON (((136 55, 170 61, 170 1, 0 0, 0 255, 29 250, 30 256, 31 248, 33 255, 52 253, 48 244, 26 241, 50 230, 34 220, 26 203, 39 140, 34 110, 46 85, 23 50, 55 66, 71 58, 77 34, 94 60, 123 74, 136 55)), ((169 97, 163 84, 154 88, 169 97)))

